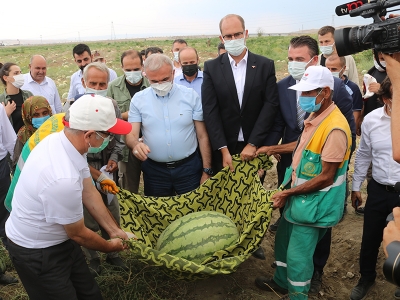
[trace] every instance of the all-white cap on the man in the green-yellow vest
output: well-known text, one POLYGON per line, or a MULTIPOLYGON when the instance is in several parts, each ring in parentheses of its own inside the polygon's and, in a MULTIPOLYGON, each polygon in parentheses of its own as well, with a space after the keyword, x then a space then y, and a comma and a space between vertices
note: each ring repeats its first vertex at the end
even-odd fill
POLYGON ((308 92, 328 86, 331 90, 333 90, 333 83, 333 76, 328 68, 323 66, 310 66, 304 72, 300 82, 292 85, 289 87, 289 89, 300 92, 308 92))

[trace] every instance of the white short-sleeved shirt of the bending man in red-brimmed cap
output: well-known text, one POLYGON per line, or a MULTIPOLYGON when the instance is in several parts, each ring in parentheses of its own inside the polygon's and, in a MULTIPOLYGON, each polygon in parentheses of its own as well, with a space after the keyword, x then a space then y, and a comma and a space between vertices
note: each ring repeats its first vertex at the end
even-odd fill
POLYGON ((43 139, 26 160, 15 187, 7 237, 30 249, 68 240, 64 225, 83 219, 83 179, 89 177, 86 155, 64 131, 43 139))

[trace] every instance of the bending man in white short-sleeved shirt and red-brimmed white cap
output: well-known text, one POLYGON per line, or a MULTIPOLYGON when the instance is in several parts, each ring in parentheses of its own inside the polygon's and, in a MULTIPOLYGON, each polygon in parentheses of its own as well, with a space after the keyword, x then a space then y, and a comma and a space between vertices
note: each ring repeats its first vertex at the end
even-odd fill
POLYGON ((98 95, 77 100, 64 125, 34 148, 22 169, 6 223, 8 250, 30 299, 102 299, 80 246, 121 251, 127 235, 93 185, 86 153, 132 127, 98 95), (82 204, 110 240, 84 225, 82 204))

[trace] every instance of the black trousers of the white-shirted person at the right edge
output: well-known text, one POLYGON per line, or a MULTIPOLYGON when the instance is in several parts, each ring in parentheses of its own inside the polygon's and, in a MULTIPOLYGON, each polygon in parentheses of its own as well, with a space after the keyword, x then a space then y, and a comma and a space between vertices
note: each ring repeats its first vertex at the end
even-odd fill
POLYGON ((367 186, 364 209, 364 227, 360 251, 361 277, 368 281, 376 278, 376 261, 386 227, 386 218, 394 207, 400 206, 399 193, 388 192, 373 178, 367 186))

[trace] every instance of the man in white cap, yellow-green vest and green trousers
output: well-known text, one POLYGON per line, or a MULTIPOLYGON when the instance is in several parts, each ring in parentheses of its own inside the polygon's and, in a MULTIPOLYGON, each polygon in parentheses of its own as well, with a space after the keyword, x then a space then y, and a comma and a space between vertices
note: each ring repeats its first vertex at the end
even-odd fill
MULTIPOLYGON (((285 299, 308 298, 315 246, 343 213, 351 132, 332 102, 333 86, 327 68, 311 66, 301 81, 290 87, 301 92, 300 106, 311 114, 304 121, 292 165, 282 183, 290 188, 272 197, 275 208, 285 206, 275 238, 274 278, 256 279, 256 284, 266 290, 288 291, 285 299)), ((281 145, 274 147, 279 151, 281 145)), ((261 147, 257 154, 269 151, 271 147, 261 147)))

